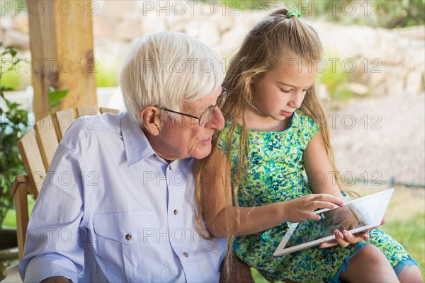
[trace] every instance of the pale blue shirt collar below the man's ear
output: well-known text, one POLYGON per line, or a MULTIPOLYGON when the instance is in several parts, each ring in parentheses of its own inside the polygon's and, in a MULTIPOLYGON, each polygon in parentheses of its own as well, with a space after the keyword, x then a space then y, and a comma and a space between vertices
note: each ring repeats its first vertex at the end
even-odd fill
POLYGON ((121 133, 128 166, 155 154, 142 128, 132 120, 128 112, 125 112, 121 118, 121 133))

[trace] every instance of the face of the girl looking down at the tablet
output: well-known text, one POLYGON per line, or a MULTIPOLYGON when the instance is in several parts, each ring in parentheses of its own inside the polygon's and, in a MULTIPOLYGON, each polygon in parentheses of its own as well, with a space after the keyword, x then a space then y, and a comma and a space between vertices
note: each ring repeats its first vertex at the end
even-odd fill
POLYGON ((313 64, 307 64, 300 57, 285 58, 278 67, 254 79, 256 110, 251 111, 263 120, 282 121, 290 117, 300 108, 316 76, 313 64))

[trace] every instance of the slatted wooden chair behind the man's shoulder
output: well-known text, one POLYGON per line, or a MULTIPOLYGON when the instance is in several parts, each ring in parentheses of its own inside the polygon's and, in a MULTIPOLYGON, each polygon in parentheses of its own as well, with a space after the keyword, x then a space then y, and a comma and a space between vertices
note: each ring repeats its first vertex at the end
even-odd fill
MULTIPOLYGON (((94 106, 77 108, 76 112, 78 116, 98 114, 94 106)), ((102 108, 101 112, 118 114, 120 111, 102 108)), ((16 176, 11 187, 11 195, 16 207, 19 260, 23 255, 29 220, 27 196, 33 195, 37 198, 57 146, 74 120, 74 110, 60 110, 55 115, 46 116, 36 122, 34 128, 29 129, 18 141, 18 149, 27 173, 27 175, 16 176)))

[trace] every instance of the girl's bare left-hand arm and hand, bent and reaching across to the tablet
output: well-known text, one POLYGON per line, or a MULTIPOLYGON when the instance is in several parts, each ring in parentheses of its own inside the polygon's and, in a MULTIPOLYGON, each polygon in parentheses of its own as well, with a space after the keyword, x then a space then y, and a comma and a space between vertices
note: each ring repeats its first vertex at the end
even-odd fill
POLYGON ((333 208, 343 202, 331 195, 306 195, 288 202, 276 202, 260 207, 234 207, 227 157, 216 149, 205 163, 200 176, 200 195, 203 217, 208 230, 215 237, 259 233, 285 221, 299 222, 319 219, 312 211, 333 208), (238 225, 239 218, 239 225, 238 225), (228 226, 227 226, 228 225, 228 226), (227 229, 226 229, 227 228, 227 229))

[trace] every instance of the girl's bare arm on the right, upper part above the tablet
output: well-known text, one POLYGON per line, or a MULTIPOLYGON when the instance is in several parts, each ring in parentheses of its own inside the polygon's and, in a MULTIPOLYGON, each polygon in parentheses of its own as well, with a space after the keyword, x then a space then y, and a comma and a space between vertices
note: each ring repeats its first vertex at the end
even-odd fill
POLYGON ((310 140, 307 149, 304 151, 303 162, 312 192, 334 195, 344 200, 336 184, 320 132, 310 140))

